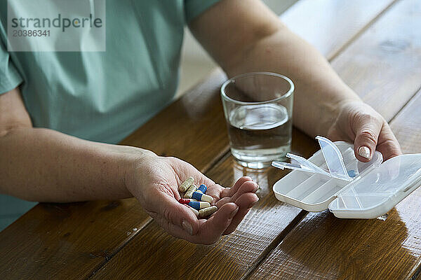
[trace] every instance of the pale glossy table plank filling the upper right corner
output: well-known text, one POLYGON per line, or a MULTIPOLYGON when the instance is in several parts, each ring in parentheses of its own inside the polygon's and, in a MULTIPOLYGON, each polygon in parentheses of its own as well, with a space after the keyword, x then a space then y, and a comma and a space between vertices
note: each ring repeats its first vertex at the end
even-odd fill
POLYGON ((388 121, 420 88, 420 6, 416 0, 399 2, 332 62, 388 121))

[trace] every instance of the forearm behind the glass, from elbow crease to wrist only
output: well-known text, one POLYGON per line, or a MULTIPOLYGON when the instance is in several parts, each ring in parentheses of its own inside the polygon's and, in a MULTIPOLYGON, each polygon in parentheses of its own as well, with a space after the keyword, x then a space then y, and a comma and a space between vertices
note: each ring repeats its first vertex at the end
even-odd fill
POLYGON ((359 99, 315 48, 286 27, 243 48, 237 57, 225 66, 229 76, 272 71, 293 80, 293 122, 309 135, 326 135, 338 116, 340 104, 359 99))

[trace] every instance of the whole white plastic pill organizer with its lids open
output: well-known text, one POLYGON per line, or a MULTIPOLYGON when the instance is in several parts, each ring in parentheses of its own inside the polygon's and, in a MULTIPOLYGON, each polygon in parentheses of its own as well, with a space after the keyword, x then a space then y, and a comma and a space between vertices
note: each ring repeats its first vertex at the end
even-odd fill
POLYGON ((311 212, 329 209, 338 218, 377 218, 421 185, 421 153, 382 162, 375 151, 370 162, 360 162, 352 144, 316 139, 321 150, 308 160, 288 153, 290 163, 272 162, 294 169, 274 184, 281 202, 311 212))

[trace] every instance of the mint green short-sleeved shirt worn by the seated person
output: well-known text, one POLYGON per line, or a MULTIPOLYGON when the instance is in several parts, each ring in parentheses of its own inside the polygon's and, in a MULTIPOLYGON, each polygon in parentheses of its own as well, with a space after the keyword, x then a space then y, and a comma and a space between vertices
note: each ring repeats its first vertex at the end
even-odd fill
MULTIPOLYGON (((107 0, 105 52, 8 52, 0 0, 0 94, 20 85, 34 127, 116 144, 171 103, 185 24, 217 1, 107 0)), ((0 230, 34 205, 12 204, 0 230)))

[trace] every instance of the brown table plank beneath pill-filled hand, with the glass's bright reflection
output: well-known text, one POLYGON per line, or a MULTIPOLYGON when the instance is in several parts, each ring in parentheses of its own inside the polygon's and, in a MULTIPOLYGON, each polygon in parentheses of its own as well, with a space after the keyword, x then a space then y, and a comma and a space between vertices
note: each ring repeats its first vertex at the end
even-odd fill
MULTIPOLYGON (((308 157, 316 151, 314 141, 302 132, 294 130, 293 139, 294 153, 308 157)), ((306 213, 275 199, 272 185, 286 173, 274 168, 256 172, 236 165, 232 156, 225 158, 206 175, 222 186, 241 176, 250 176, 260 185, 258 204, 234 233, 210 246, 195 245, 171 237, 152 222, 93 279, 240 279, 306 213), (163 263, 171 265, 161 269, 163 263)))

